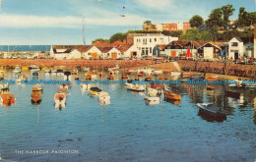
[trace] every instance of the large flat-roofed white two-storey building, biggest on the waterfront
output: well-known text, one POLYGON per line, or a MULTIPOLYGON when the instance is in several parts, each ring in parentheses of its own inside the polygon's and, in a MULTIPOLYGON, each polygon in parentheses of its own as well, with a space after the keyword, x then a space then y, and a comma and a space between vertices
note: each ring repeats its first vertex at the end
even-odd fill
POLYGON ((141 56, 153 56, 157 44, 168 44, 178 37, 166 36, 161 33, 133 33, 134 46, 141 50, 141 56))

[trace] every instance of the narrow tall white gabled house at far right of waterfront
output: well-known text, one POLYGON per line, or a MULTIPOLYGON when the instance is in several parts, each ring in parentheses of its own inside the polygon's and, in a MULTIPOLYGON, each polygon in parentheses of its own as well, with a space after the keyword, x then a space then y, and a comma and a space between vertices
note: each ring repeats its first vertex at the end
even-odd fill
POLYGON ((228 41, 228 59, 236 60, 243 56, 243 41, 233 37, 228 41))

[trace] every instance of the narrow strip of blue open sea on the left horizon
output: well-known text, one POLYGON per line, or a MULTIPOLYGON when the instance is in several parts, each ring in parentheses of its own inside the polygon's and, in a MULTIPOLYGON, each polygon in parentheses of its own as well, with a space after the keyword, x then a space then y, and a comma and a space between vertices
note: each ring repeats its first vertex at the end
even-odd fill
POLYGON ((0 45, 3 52, 49 51, 50 45, 0 45))

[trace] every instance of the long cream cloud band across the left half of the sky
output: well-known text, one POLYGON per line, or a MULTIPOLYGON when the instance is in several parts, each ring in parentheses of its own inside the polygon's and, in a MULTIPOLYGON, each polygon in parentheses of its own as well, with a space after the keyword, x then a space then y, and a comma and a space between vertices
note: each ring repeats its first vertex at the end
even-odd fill
MULTIPOLYGON (((85 18, 86 25, 96 26, 141 26, 146 19, 141 16, 129 15, 120 17, 118 14, 109 14, 101 18, 85 18)), ((82 26, 82 17, 39 17, 21 15, 1 15, 0 27, 66 27, 79 28, 82 26)))

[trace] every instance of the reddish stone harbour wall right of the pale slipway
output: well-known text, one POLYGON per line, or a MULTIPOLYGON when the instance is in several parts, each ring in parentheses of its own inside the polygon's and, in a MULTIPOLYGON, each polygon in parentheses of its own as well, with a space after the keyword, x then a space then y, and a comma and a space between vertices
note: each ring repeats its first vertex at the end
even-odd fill
POLYGON ((177 61, 182 71, 215 73, 228 76, 256 78, 256 65, 239 65, 230 63, 177 61))

